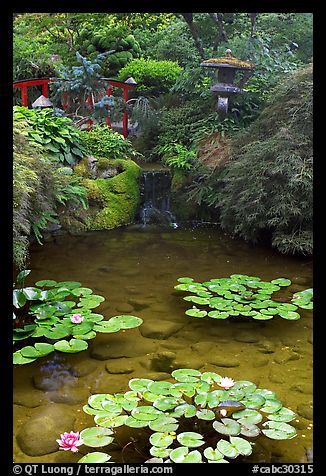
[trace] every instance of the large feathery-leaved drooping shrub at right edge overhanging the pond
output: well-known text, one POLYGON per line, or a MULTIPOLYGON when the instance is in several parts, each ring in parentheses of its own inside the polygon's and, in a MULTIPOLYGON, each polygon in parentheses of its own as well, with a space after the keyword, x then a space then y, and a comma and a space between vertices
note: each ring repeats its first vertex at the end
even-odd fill
POLYGON ((233 141, 221 224, 283 253, 312 253, 312 65, 288 75, 273 100, 233 141))

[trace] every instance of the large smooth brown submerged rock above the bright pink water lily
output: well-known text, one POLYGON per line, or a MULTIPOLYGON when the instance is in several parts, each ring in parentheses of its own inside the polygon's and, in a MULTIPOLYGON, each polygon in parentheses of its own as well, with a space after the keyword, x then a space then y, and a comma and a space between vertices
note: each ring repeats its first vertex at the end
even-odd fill
POLYGON ((74 412, 61 404, 44 405, 19 430, 16 439, 21 450, 29 456, 41 456, 58 451, 56 439, 70 431, 75 422, 74 412))

